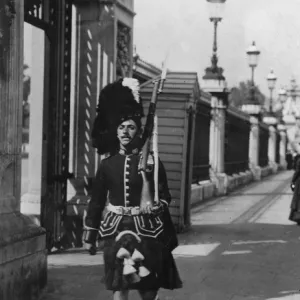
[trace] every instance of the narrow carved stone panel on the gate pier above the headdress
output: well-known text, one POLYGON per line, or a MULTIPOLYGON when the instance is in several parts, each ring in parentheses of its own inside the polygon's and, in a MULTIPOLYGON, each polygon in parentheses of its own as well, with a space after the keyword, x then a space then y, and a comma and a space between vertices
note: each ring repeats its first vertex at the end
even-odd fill
POLYGON ((131 30, 129 27, 118 23, 117 32, 117 75, 128 76, 130 72, 130 39, 131 30))

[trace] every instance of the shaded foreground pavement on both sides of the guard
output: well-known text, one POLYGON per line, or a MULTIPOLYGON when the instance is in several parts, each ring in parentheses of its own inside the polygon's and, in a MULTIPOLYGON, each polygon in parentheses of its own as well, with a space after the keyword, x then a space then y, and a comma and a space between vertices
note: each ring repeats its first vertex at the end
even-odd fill
MULTIPOLYGON (((179 235, 175 255, 184 287, 162 290, 160 299, 299 300, 299 236, 296 225, 193 226, 179 235), (192 247, 184 252, 184 246, 192 247), (203 252, 205 247, 208 251, 203 252)), ((103 274, 101 252, 51 255, 48 287, 41 300, 112 299, 101 283, 103 274)), ((139 298, 133 293, 130 299, 139 298)))

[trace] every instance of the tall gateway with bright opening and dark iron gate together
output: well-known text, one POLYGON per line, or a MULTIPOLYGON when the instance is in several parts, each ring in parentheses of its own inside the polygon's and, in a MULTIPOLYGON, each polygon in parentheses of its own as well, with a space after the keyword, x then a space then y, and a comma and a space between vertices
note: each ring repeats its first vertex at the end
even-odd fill
POLYGON ((21 212, 63 236, 69 178, 72 1, 24 2, 21 212))

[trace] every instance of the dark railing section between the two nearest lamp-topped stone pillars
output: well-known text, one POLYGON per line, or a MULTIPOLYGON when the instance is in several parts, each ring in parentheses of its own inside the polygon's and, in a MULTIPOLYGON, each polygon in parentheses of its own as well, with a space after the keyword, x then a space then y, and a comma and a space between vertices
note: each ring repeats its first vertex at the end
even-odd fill
POLYGON ((228 110, 225 123, 225 173, 237 174, 249 169, 249 135, 251 125, 241 112, 228 110))

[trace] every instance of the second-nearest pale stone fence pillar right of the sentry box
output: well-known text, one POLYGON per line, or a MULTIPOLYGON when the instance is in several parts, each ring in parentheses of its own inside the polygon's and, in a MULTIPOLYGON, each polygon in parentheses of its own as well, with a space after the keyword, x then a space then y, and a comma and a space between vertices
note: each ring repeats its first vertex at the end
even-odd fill
POLYGON ((261 179, 261 168, 259 166, 259 121, 250 117, 251 131, 249 136, 249 164, 254 180, 261 179))

